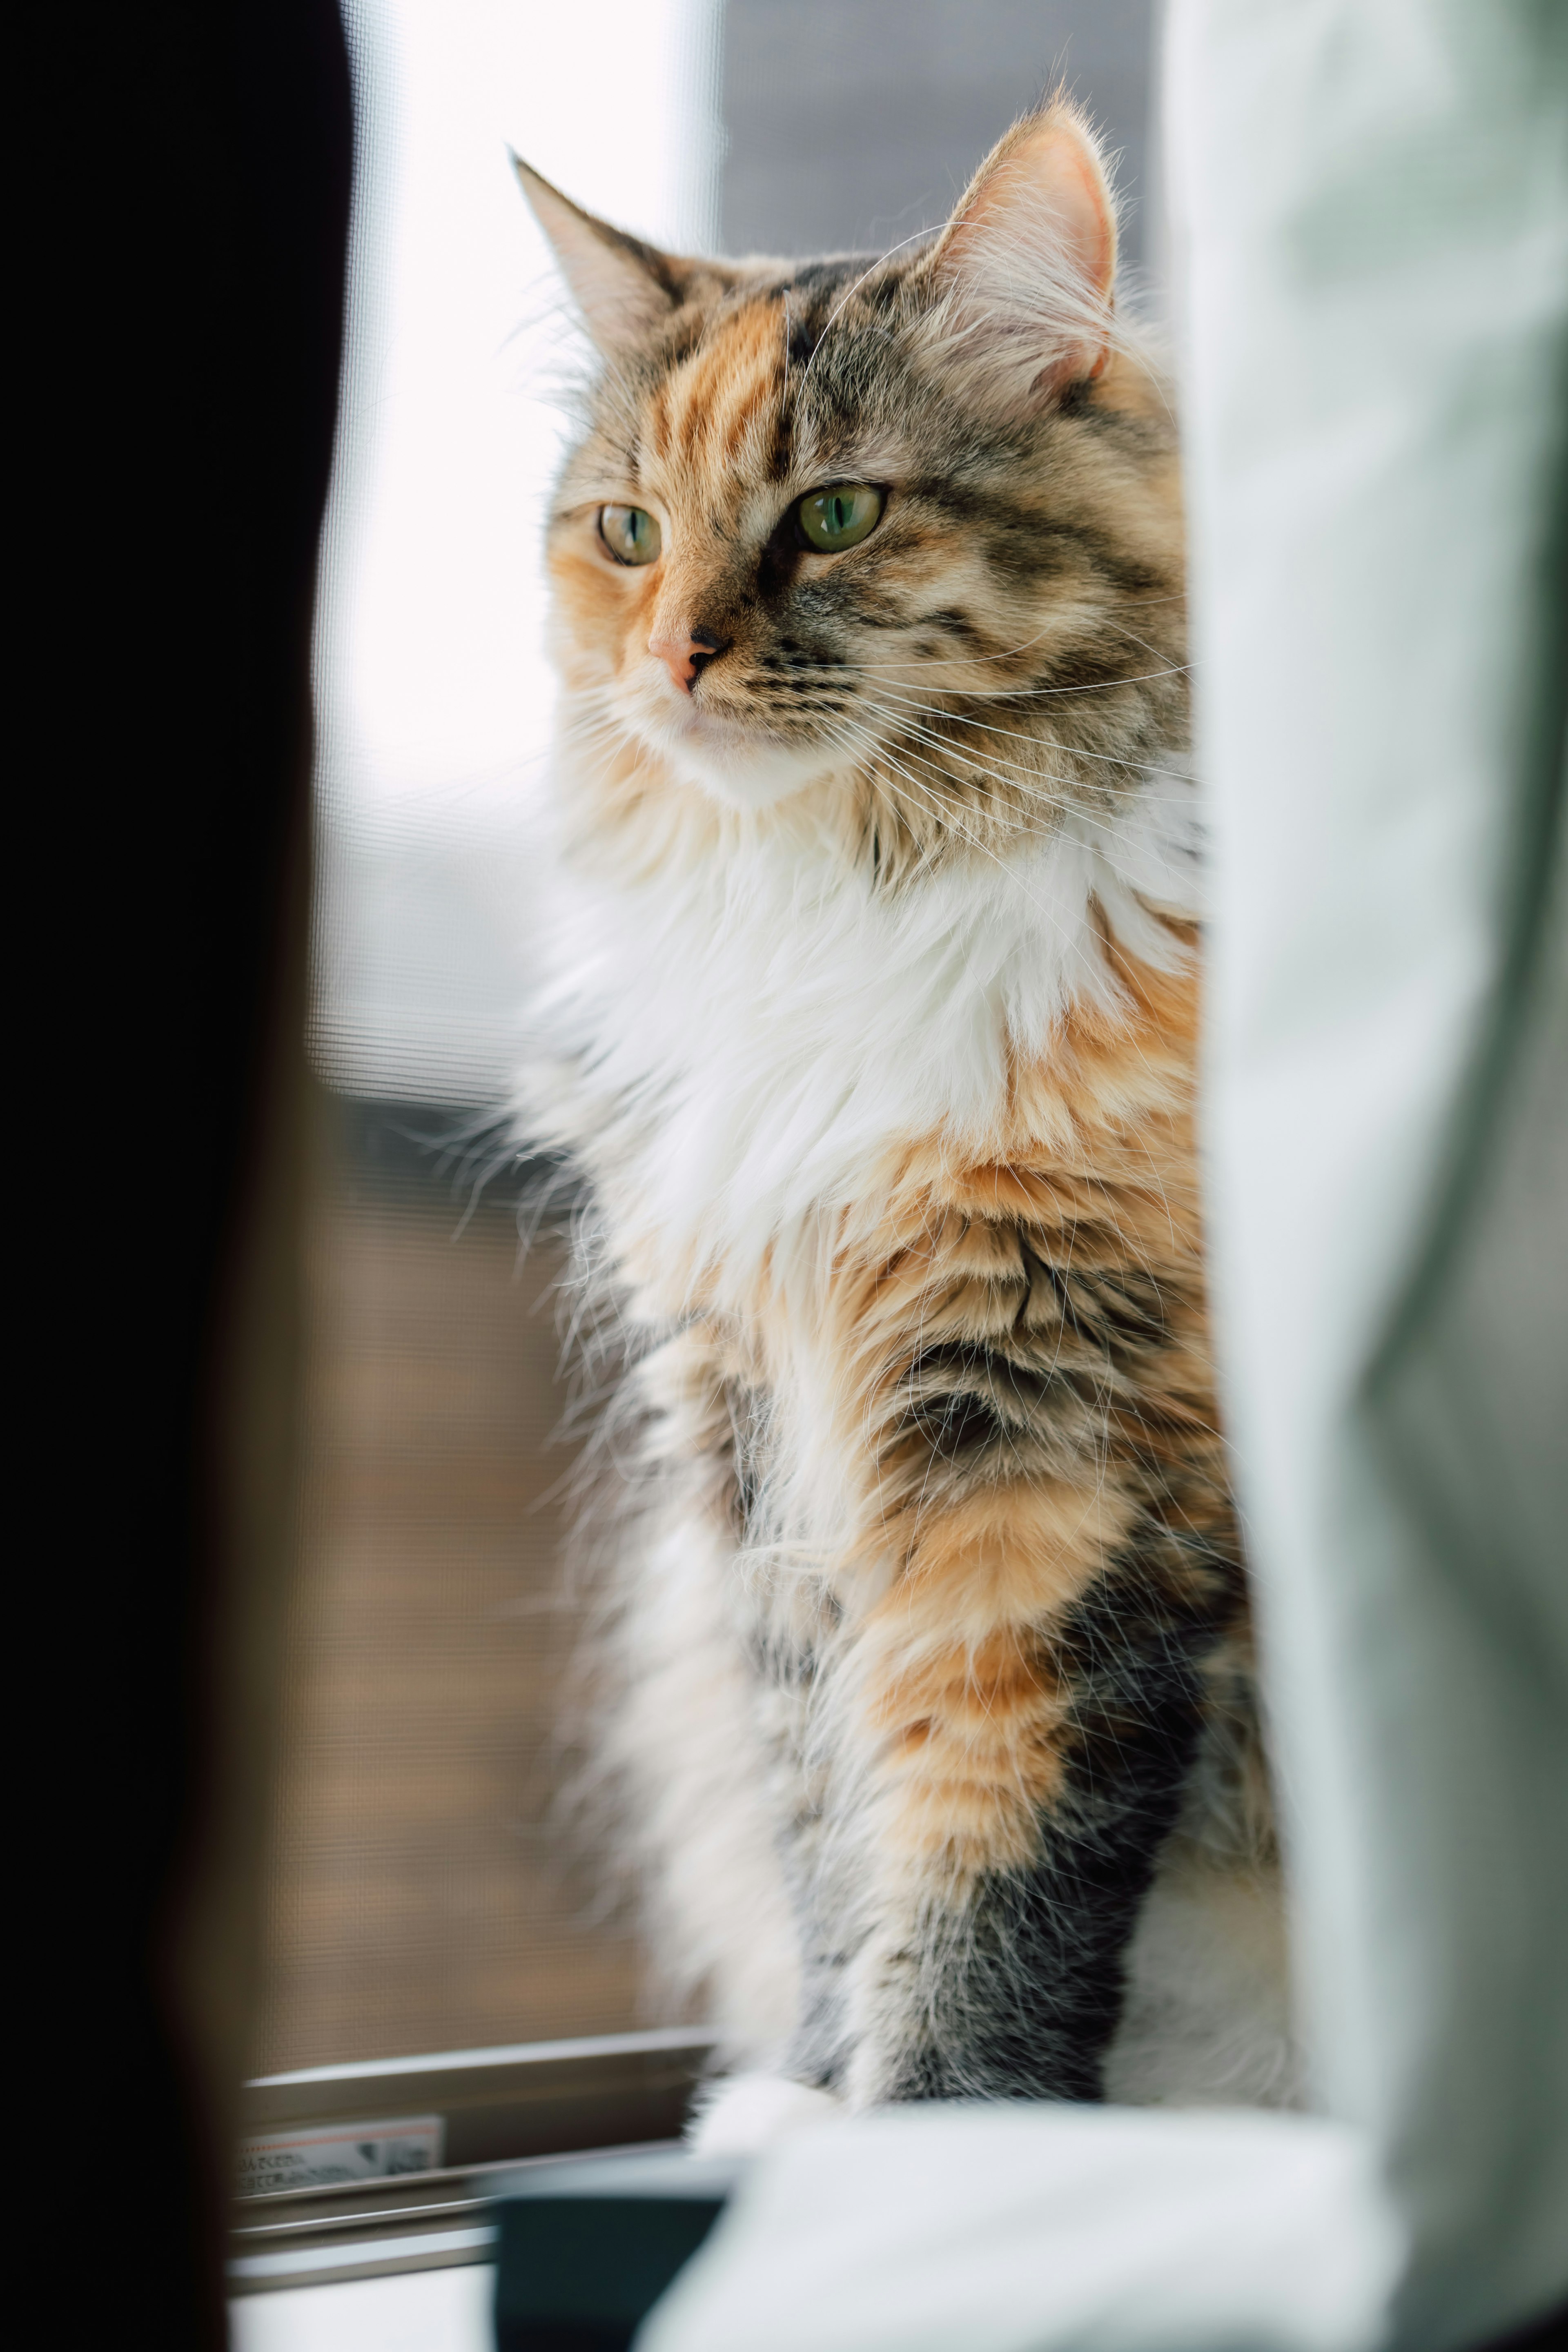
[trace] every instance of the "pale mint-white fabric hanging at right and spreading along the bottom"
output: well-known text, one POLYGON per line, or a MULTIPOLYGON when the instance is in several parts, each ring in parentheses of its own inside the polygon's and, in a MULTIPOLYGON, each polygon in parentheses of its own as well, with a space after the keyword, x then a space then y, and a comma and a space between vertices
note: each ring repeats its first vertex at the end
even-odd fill
POLYGON ((1568 2298, 1568 12, 1175 0, 1211 1207, 1321 2117, 922 2110, 644 2352, 1479 2345, 1568 2298))

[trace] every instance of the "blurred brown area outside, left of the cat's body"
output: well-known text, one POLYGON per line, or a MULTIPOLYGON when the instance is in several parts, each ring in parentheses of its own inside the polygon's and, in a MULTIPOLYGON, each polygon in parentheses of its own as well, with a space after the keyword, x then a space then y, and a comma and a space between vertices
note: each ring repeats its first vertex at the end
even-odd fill
POLYGON ((437 1105, 331 1124, 256 2072, 651 2023, 555 1795, 562 1244, 437 1105))

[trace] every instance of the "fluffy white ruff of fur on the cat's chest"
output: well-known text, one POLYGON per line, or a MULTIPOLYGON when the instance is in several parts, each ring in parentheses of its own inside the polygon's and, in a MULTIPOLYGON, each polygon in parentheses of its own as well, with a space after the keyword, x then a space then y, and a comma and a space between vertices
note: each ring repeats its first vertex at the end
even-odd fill
POLYGON ((905 1138, 983 1148, 1009 1051, 1117 1002, 1093 906, 1171 962, 1140 901, 1194 913, 1197 863, 1192 786, 1159 774, 1114 821, 898 894, 773 818, 637 882, 557 868, 536 1021, 559 1077, 536 1110, 609 1155, 672 1265, 743 1277, 905 1138))

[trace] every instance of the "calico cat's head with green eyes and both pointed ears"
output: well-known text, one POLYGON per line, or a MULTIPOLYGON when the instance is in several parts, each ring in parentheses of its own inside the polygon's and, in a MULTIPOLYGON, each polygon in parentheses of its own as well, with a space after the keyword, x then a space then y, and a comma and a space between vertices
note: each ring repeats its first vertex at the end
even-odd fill
POLYGON ((1077 108, 882 259, 677 259, 520 174, 602 360, 550 517, 590 769, 813 795, 893 882, 1173 748, 1173 433, 1077 108))

